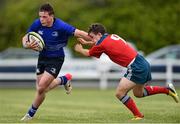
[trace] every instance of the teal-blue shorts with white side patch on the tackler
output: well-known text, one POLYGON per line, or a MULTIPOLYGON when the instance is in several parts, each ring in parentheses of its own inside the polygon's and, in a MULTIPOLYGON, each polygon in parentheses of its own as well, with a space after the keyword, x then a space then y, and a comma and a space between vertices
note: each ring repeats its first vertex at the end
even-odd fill
POLYGON ((124 77, 136 84, 145 84, 152 79, 150 64, 143 56, 137 55, 134 62, 127 67, 124 77))

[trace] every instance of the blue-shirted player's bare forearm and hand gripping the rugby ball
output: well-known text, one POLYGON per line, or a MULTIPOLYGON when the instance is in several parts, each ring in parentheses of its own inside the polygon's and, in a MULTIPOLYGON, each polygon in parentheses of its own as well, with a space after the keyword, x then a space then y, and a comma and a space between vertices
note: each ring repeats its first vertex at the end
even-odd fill
POLYGON ((27 37, 27 34, 22 38, 22 44, 23 44, 23 47, 26 48, 26 49, 33 49, 33 50, 36 50, 35 48, 37 47, 37 43, 35 41, 33 42, 29 42, 28 41, 28 37, 27 37))

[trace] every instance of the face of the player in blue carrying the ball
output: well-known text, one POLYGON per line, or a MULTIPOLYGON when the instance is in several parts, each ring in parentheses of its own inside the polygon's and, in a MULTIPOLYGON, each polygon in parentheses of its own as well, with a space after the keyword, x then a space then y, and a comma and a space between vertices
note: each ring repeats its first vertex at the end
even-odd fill
POLYGON ((42 26, 51 27, 53 24, 54 16, 49 15, 49 13, 46 11, 43 11, 43 12, 39 12, 39 19, 42 26))

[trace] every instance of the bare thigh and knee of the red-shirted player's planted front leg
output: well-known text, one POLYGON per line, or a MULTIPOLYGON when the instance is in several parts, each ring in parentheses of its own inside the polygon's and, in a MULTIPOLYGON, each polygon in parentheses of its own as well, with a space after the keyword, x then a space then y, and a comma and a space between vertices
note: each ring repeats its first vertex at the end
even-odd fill
POLYGON ((122 97, 125 94, 128 93, 129 90, 133 89, 135 87, 135 83, 132 82, 131 80, 123 77, 120 82, 119 85, 116 89, 116 96, 118 97, 122 97))

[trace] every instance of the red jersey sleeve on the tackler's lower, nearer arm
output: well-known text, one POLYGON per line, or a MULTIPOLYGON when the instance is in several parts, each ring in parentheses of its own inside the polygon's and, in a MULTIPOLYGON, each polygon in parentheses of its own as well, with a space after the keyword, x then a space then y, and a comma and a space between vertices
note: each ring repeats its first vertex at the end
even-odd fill
POLYGON ((102 55, 103 52, 104 52, 104 50, 102 49, 101 46, 93 46, 89 50, 89 56, 94 56, 96 58, 99 58, 102 55))

